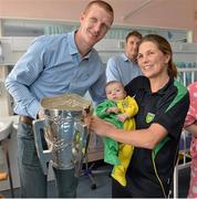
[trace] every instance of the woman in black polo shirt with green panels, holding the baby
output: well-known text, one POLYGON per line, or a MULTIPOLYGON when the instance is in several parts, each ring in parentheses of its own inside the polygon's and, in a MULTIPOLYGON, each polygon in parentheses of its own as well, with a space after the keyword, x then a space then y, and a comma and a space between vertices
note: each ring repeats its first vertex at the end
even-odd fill
POLYGON ((175 80, 177 69, 166 39, 146 35, 139 44, 137 61, 144 76, 125 86, 139 106, 137 129, 117 129, 96 116, 92 117, 90 128, 135 146, 126 172, 127 186, 122 187, 113 179, 112 197, 164 198, 168 197, 189 96, 187 88, 175 80))

